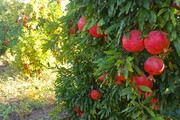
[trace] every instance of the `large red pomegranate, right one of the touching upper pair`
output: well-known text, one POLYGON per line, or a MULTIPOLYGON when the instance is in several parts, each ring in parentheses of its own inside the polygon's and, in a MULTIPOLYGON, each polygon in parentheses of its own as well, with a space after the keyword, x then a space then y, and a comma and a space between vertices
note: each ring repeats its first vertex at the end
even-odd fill
POLYGON ((145 38, 144 45, 149 53, 160 54, 167 52, 170 41, 165 32, 152 31, 149 33, 149 37, 145 38))

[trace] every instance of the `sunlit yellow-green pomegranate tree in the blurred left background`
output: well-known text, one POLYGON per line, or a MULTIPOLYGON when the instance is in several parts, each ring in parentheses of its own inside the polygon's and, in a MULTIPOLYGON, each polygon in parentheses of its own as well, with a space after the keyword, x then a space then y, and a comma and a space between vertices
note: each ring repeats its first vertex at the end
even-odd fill
POLYGON ((53 46, 61 31, 57 22, 64 14, 61 4, 50 0, 1 0, 0 5, 0 55, 8 50, 14 58, 10 61, 13 67, 28 76, 40 74, 57 56, 53 46))

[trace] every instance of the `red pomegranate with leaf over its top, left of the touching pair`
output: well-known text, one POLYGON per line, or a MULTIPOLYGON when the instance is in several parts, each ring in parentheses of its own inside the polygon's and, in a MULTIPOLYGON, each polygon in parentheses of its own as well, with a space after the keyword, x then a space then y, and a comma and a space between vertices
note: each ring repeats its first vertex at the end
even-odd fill
POLYGON ((123 47, 130 52, 138 52, 144 50, 144 40, 139 38, 142 34, 139 30, 131 30, 129 40, 126 38, 125 34, 122 38, 123 47))

